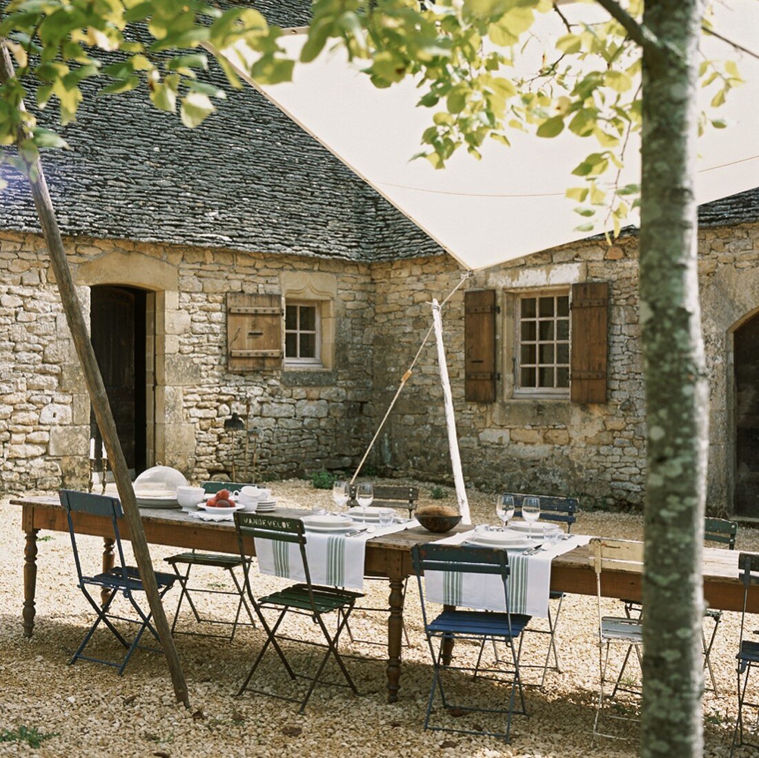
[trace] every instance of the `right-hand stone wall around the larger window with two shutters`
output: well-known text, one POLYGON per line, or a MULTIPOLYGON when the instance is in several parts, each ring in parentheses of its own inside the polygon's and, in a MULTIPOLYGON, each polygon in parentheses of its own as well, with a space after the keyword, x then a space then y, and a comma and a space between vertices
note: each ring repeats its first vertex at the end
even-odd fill
MULTIPOLYGON (((711 387, 710 511, 732 511, 735 444, 732 420, 732 329, 759 310, 759 225, 699 233, 704 338, 711 387)), ((637 239, 609 249, 582 242, 477 273, 470 288, 494 288, 501 309, 496 402, 464 399, 461 291, 443 316, 465 478, 477 486, 578 495, 585 502, 640 505, 644 483, 644 385, 638 325, 637 239), (512 396, 512 299, 522 288, 609 282, 606 404, 512 396)), ((451 259, 379 264, 374 385, 389 401, 430 325, 431 297, 459 280, 451 259)), ((398 473, 450 480, 442 393, 432 344, 396 406, 379 446, 398 473)))

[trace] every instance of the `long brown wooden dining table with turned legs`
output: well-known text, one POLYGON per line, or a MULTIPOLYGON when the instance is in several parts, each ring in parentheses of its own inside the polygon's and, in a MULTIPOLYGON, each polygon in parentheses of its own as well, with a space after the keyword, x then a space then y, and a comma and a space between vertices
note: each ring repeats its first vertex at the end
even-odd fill
MULTIPOLYGON (((31 637, 34 629, 36 590, 37 534, 40 530, 68 532, 68 522, 58 497, 24 497, 11 500, 22 507, 21 527, 26 533, 24 547, 24 634, 31 637)), ((229 522, 200 521, 176 509, 143 508, 143 527, 149 543, 212 552, 237 553, 235 527, 229 522)), ((301 517, 307 511, 277 508, 280 516, 301 517)), ((103 538, 102 566, 107 571, 114 565, 114 536, 111 521, 101 516, 74 514, 77 533, 103 538)), ((129 539, 126 521, 120 525, 121 536, 129 539)), ((457 527, 455 531, 464 531, 457 527)), ((411 546, 440 539, 421 527, 375 537, 367 542, 365 572, 385 577, 389 583, 389 618, 387 625, 387 690, 389 703, 398 700, 401 678, 403 628, 403 585, 413 573, 411 546)), ((250 555, 254 545, 250 542, 250 555)), ((704 551, 704 596, 712 608, 740 611, 743 605, 743 585, 738 578, 738 554, 730 550, 704 551)), ((591 568, 586 547, 576 548, 554 558, 551 567, 551 589, 581 595, 596 594, 596 575, 591 568)), ((641 575, 626 571, 604 571, 601 592, 606 597, 637 600, 641 598, 641 575)), ((748 610, 759 612, 759 586, 753 587, 748 610)))

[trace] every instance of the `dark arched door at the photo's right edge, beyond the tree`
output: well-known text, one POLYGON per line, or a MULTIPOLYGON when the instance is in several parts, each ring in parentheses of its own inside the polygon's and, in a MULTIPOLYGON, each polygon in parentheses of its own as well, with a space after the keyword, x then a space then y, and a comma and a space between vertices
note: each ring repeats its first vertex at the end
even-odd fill
POLYGON ((759 316, 735 332, 735 513, 759 516, 759 316))

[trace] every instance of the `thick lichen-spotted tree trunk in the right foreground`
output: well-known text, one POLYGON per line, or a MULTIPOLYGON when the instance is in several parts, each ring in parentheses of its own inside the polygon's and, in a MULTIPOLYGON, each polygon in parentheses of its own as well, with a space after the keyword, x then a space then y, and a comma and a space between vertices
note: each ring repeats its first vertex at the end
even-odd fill
POLYGON ((701 557, 708 385, 698 303, 701 0, 657 0, 644 24, 640 297, 647 476, 641 756, 701 756, 701 557))

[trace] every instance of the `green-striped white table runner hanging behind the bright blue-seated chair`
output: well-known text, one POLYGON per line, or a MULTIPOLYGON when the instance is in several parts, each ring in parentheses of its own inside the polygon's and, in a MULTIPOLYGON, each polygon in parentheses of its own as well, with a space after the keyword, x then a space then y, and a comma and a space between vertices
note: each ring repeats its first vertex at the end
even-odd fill
MULTIPOLYGON (((437 545, 460 545, 474 531, 439 540, 437 545)), ((546 618, 551 586, 551 560, 556 555, 587 545, 591 537, 573 534, 546 550, 524 555, 509 550, 509 606, 512 613, 546 618)), ((478 546, 487 547, 487 546, 478 546)), ((497 574, 462 574, 455 571, 428 571, 424 574, 427 599, 444 605, 459 605, 486 611, 505 611, 503 582, 497 574)))

